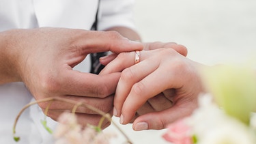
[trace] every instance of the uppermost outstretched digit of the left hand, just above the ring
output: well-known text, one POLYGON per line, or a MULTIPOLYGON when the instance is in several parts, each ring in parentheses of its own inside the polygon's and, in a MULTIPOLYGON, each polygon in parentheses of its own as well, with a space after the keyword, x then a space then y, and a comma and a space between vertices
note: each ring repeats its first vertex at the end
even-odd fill
POLYGON ((116 31, 84 31, 76 38, 82 54, 112 51, 122 53, 128 51, 141 51, 143 44, 124 38, 116 31))

